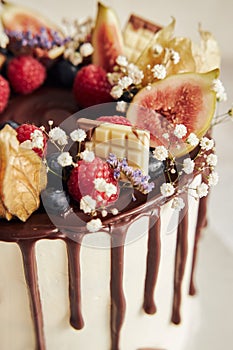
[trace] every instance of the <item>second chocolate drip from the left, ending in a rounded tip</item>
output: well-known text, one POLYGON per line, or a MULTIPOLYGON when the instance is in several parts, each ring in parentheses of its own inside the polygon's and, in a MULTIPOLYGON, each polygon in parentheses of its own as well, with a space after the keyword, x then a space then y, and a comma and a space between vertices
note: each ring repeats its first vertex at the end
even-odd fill
MULTIPOLYGON (((79 241, 82 239, 80 237, 79 241)), ((81 242, 66 239, 68 269, 69 269, 69 296, 70 296, 70 324, 75 329, 82 329, 84 321, 81 311, 81 270, 80 248, 81 242)))

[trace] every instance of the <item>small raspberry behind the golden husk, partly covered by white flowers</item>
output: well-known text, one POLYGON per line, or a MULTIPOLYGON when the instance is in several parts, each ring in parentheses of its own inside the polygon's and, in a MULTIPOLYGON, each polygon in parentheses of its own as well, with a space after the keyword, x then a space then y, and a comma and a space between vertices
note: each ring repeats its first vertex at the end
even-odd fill
MULTIPOLYGON (((35 130, 38 130, 42 133, 42 131, 35 125, 32 124, 22 124, 20 125, 16 131, 17 131, 17 139, 19 143, 22 143, 24 141, 32 141, 32 134, 34 133, 35 130)), ((38 148, 34 147, 32 148, 34 152, 38 154, 39 157, 43 157, 46 151, 46 146, 47 146, 47 139, 44 133, 43 135, 43 147, 38 148)))

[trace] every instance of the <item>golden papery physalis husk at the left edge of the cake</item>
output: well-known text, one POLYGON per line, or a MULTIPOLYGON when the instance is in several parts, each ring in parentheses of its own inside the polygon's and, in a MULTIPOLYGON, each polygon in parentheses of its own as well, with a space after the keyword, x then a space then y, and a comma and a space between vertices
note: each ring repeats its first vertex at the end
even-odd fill
MULTIPOLYGON (((32 150, 19 145, 9 125, 0 131, 0 198, 7 213, 26 221, 39 207, 46 169, 32 150)), ((3 217, 10 220, 6 214, 3 217)))

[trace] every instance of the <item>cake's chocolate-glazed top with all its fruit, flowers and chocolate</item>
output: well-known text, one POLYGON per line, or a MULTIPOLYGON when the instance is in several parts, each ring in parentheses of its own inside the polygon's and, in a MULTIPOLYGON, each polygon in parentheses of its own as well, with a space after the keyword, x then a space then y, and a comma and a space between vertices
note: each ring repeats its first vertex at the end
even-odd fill
POLYGON ((197 174, 196 198, 217 184, 208 130, 232 111, 215 116, 226 92, 211 33, 199 28, 196 44, 174 18, 135 14, 122 30, 101 3, 61 28, 5 2, 1 19, 0 216, 12 234, 109 230, 170 199, 183 209, 197 174))

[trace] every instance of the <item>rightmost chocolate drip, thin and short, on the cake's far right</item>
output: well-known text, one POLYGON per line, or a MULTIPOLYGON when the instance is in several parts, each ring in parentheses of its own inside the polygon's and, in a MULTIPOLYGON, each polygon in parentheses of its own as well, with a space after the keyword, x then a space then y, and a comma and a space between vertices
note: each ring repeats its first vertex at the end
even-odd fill
POLYGON ((195 268, 196 268, 196 261, 197 261, 198 243, 201 237, 201 231, 207 225, 207 214, 206 214, 207 200, 208 200, 207 197, 202 197, 199 201, 195 241, 194 241, 194 248, 193 248, 193 261, 192 261, 192 269, 191 269, 191 277, 190 277, 190 285, 189 285, 189 295, 196 294, 194 275, 195 275, 195 268))

